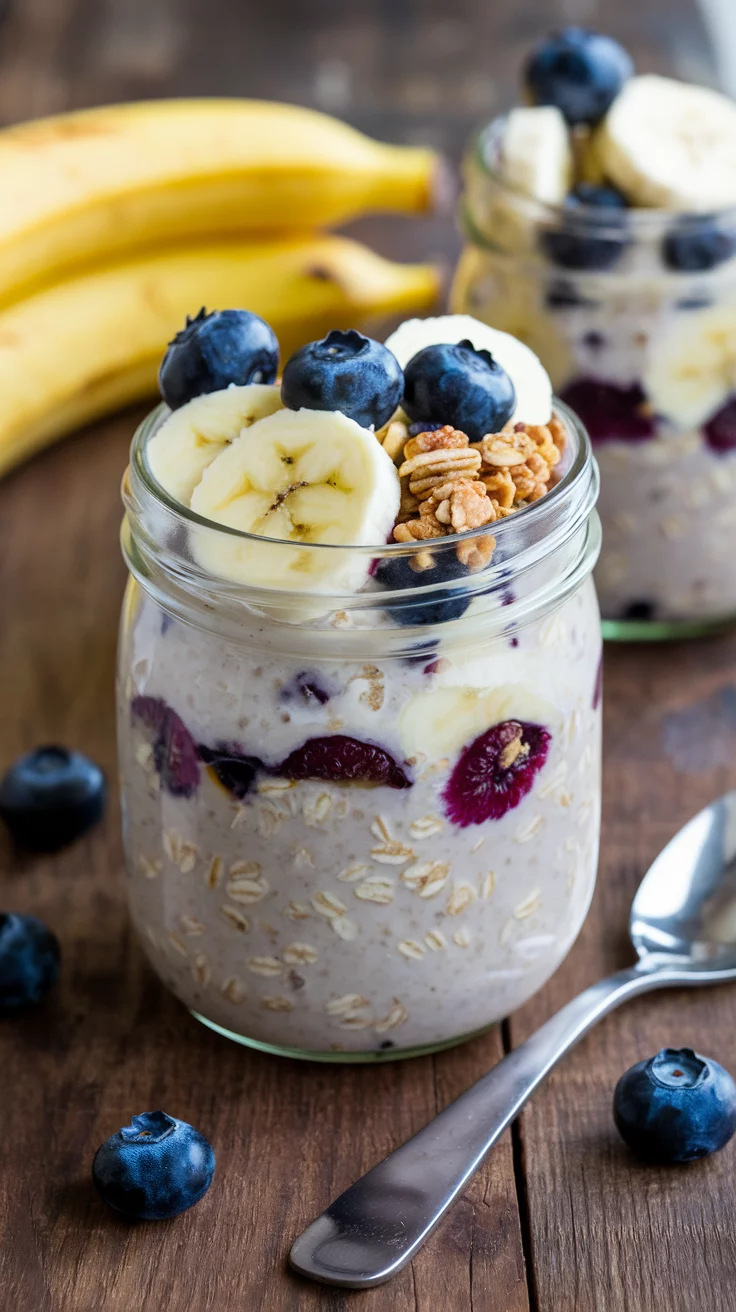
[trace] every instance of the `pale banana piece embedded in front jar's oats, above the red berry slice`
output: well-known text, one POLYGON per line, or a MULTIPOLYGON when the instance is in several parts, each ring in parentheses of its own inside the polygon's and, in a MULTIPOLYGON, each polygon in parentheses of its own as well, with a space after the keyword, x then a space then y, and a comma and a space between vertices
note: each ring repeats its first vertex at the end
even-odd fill
POLYGON ((479 687, 437 687, 417 693, 399 716, 399 741, 407 757, 424 752, 430 760, 454 757, 480 733, 502 720, 526 720, 555 729, 560 712, 522 684, 492 691, 479 687))

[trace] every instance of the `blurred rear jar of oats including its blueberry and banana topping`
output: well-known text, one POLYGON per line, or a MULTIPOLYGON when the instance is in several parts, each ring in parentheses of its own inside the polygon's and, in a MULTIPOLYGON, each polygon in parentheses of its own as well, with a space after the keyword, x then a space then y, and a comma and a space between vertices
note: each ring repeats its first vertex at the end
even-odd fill
POLYGON ((736 617, 736 105, 568 29, 466 167, 453 303, 526 341, 601 470, 606 636, 736 617))

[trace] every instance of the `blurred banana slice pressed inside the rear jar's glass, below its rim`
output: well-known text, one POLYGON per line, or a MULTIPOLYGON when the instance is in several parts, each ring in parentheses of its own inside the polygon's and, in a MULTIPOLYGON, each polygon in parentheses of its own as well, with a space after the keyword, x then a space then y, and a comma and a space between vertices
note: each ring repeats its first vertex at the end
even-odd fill
POLYGON ((678 428, 698 428, 736 391, 736 310, 689 310, 655 338, 644 390, 678 428))

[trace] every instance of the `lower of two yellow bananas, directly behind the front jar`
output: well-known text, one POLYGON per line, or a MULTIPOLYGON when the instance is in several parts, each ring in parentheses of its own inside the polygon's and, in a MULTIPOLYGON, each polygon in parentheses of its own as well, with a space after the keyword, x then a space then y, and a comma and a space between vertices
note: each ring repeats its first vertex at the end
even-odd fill
POLYGON ((148 252, 0 311, 0 474, 156 390, 167 342, 205 304, 266 319, 282 359, 329 328, 429 310, 440 277, 346 237, 218 241, 148 252))

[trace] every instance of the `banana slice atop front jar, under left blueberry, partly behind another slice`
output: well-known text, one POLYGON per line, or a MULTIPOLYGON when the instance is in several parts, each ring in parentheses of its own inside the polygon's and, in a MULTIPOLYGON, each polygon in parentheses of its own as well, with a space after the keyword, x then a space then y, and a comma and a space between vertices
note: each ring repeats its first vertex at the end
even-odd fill
POLYGON ((244 428, 281 408, 281 390, 264 383, 195 396, 173 411, 148 442, 148 468, 169 496, 189 505, 215 455, 244 428))

